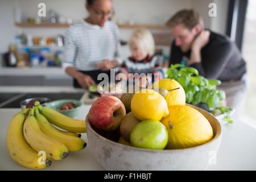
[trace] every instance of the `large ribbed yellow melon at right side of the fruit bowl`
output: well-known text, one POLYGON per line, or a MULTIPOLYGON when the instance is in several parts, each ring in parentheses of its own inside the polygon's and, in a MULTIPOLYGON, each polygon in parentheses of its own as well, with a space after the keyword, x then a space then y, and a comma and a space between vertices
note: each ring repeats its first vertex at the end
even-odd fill
POLYGON ((206 143, 213 138, 207 118, 187 105, 169 107, 170 115, 162 119, 168 131, 167 148, 188 148, 206 143))

